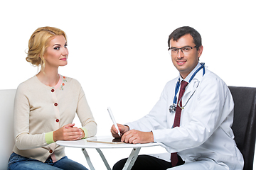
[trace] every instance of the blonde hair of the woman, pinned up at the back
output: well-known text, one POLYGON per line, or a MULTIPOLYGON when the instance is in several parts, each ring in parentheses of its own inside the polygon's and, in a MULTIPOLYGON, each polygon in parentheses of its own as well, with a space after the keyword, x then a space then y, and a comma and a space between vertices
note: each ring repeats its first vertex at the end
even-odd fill
POLYGON ((41 65, 41 69, 43 69, 45 66, 43 55, 48 47, 48 42, 50 42, 55 35, 63 35, 65 40, 67 40, 65 32, 58 28, 37 28, 28 41, 28 56, 26 57, 26 61, 31 62, 31 64, 37 67, 41 65))

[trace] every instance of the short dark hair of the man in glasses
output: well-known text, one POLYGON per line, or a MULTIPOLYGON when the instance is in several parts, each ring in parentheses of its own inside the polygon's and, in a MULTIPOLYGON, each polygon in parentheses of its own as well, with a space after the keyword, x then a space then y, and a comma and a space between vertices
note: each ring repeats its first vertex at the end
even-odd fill
POLYGON ((180 28, 177 28, 174 30, 171 35, 169 35, 168 39, 168 47, 170 47, 170 41, 173 39, 174 41, 177 41, 179 38, 181 38, 183 35, 190 34, 193 37, 193 41, 196 45, 196 50, 199 49, 199 47, 202 45, 202 38, 200 33, 198 33, 197 30, 194 28, 191 28, 189 26, 183 26, 180 28))

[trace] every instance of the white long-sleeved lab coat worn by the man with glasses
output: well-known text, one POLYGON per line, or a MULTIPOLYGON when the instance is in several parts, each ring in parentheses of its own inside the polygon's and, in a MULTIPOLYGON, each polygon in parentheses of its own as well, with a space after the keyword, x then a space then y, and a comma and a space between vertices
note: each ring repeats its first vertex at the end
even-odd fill
MULTIPOLYGON (((199 63, 186 81, 198 67, 199 63)), ((208 69, 203 76, 201 69, 183 95, 184 106, 195 91, 181 112, 180 127, 172 128, 175 113, 169 112, 169 106, 174 101, 178 78, 182 79, 177 77, 166 84, 159 101, 148 115, 127 123, 129 128, 152 131, 154 142, 161 143, 169 153, 178 152, 186 163, 209 160, 227 169, 242 169, 242 154, 236 147, 230 128, 234 103, 228 86, 208 69)))

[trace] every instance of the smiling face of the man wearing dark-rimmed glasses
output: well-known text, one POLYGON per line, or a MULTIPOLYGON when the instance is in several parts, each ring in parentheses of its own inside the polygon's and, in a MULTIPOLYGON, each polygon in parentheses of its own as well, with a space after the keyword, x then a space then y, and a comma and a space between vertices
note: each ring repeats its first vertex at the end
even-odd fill
POLYGON ((195 46, 190 34, 183 35, 177 41, 170 40, 171 60, 183 79, 196 67, 203 52, 203 46, 198 50, 195 46))

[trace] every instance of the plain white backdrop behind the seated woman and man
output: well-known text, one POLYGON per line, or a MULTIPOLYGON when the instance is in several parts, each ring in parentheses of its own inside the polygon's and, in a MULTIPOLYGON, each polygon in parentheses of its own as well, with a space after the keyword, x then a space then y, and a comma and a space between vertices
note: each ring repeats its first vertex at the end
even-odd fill
MULTIPOLYGON (((167 52, 169 34, 180 26, 196 28, 203 38, 201 62, 229 86, 255 86, 254 1, 1 1, 0 89, 16 89, 37 74, 25 50, 34 30, 53 26, 68 35, 68 66, 59 73, 78 79, 98 124, 110 135, 118 123, 149 113, 167 81, 178 75, 167 52)), ((78 126, 79 121, 75 120, 78 126)), ((110 166, 129 150, 103 150, 110 166), (113 154, 117 154, 113 157, 113 154)), ((164 152, 142 149, 141 153, 164 152)), ((87 166, 80 149, 66 154, 87 166)), ((104 169, 89 150, 95 169, 104 169)), ((88 167, 88 166, 87 166, 88 167)))

